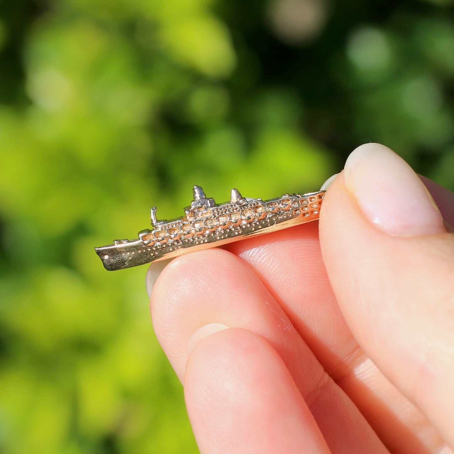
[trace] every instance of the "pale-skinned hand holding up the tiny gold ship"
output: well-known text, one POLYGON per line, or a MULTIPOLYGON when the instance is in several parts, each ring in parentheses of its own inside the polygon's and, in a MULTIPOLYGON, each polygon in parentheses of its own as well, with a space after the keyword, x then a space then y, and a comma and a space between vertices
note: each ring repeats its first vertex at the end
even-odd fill
POLYGON ((363 145, 319 222, 165 266, 153 327, 202 453, 453 453, 454 194, 422 180, 439 211, 363 145))

